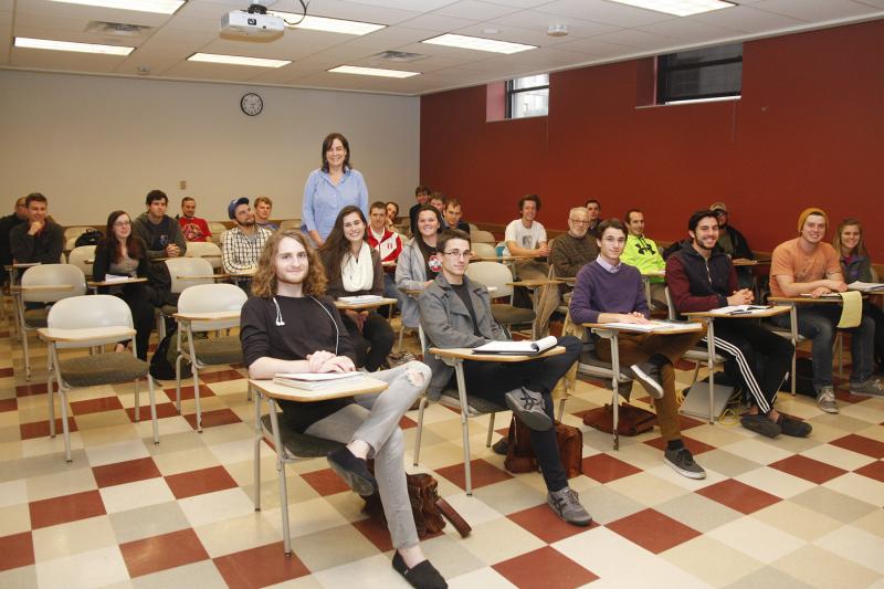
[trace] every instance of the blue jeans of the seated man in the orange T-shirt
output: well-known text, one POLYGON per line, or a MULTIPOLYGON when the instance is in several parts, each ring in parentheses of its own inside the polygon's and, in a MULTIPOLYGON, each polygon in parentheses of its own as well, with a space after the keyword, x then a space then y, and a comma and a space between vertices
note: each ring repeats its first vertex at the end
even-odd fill
MULTIPOLYGON (((832 386, 832 345, 834 344, 841 305, 820 304, 798 307, 798 333, 812 341, 813 390, 832 386)), ((789 316, 778 315, 774 323, 789 328, 789 316)), ((851 334, 852 370, 850 381, 860 383, 872 376, 872 354, 875 340, 875 323, 863 313, 860 325, 844 329, 851 334)))

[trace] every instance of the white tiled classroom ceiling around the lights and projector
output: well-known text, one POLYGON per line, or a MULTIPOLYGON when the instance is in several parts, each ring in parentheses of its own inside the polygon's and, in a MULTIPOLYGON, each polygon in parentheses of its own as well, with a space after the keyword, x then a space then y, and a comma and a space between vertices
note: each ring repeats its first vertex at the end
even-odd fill
MULTIPOLYGON (((64 3, 0 0, 0 67, 143 75, 164 80, 422 95, 535 73, 884 18, 884 0, 733 0, 732 8, 674 17, 609 0, 313 0, 308 14, 386 24, 350 34, 288 29, 272 42, 222 39, 219 23, 249 0, 188 0, 173 14, 64 3), (90 32, 95 22, 146 27, 133 36, 90 32), (568 34, 550 36, 550 25, 568 34), (496 31, 496 32, 495 32, 496 31), (457 33, 537 45, 511 55, 422 41, 457 33), (136 48, 128 56, 13 46, 14 38, 136 48), (422 57, 396 63, 385 51, 422 57), (193 53, 291 60, 278 69, 197 63, 193 53), (408 78, 329 73, 339 65, 420 72, 408 78)), ((297 0, 271 10, 299 12, 297 0)))

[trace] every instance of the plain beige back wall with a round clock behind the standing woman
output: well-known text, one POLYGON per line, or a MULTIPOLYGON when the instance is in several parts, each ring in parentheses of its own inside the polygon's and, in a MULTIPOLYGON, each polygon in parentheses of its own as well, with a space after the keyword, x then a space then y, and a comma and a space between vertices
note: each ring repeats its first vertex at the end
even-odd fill
POLYGON ((418 183, 418 98, 0 71, 0 214, 40 191, 65 225, 137 214, 152 188, 171 214, 185 194, 210 220, 234 196, 266 194, 274 218, 299 218, 330 132, 349 140, 370 199, 410 206, 418 183), (250 91, 264 98, 256 117, 240 111, 250 91))

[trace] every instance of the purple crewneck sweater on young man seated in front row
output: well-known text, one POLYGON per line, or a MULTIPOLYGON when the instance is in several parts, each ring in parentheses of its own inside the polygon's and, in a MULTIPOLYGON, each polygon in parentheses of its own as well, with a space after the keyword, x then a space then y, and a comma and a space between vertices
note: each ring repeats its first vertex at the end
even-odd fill
POLYGON ((573 323, 598 323, 599 313, 633 311, 651 316, 638 269, 621 263, 619 271, 608 272, 596 261, 577 273, 570 305, 573 323))

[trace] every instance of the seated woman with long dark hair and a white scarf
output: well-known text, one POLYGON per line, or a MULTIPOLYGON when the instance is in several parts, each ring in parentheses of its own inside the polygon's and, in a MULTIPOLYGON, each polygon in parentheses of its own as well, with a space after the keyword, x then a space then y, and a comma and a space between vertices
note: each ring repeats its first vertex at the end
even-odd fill
MULTIPOLYGON (((365 294, 383 295, 380 255, 366 242, 366 218, 359 207, 344 207, 332 233, 319 249, 328 294, 334 298, 365 294)), ((393 328, 375 311, 345 311, 344 326, 356 348, 356 365, 373 372, 393 349, 393 328)))

